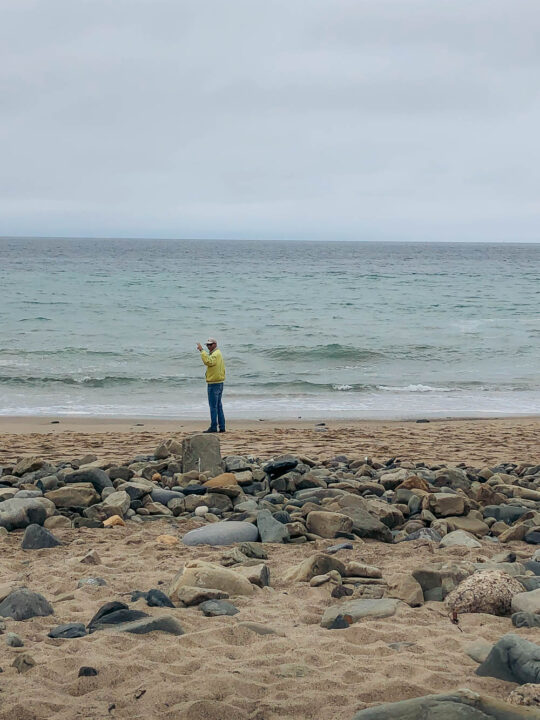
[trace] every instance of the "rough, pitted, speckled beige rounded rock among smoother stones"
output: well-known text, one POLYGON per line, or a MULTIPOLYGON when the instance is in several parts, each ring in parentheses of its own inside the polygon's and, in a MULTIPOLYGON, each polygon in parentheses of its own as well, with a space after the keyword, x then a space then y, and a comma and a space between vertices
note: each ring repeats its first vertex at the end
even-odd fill
POLYGON ((446 597, 446 605, 456 613, 489 613, 508 615, 512 598, 523 586, 510 575, 498 570, 484 570, 465 578, 446 597))

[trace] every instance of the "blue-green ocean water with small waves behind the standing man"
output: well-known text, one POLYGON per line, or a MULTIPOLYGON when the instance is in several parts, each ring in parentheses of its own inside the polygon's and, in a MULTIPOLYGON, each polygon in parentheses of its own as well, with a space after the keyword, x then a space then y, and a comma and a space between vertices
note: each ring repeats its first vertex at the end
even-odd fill
POLYGON ((540 245, 0 239, 0 414, 540 414, 540 245))

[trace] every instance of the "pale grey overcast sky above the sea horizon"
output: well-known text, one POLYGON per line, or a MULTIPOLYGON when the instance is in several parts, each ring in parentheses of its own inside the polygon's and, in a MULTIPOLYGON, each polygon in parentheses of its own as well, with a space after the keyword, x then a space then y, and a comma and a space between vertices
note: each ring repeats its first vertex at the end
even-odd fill
POLYGON ((0 236, 540 241, 538 0, 0 6, 0 236))

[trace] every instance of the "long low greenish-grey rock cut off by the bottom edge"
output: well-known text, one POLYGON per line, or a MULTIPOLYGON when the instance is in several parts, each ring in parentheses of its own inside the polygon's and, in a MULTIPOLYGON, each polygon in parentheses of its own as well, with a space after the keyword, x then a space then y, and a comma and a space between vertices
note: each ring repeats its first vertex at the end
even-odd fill
POLYGON ((534 715, 528 712, 526 708, 463 689, 384 703, 360 710, 353 720, 533 720, 534 715))

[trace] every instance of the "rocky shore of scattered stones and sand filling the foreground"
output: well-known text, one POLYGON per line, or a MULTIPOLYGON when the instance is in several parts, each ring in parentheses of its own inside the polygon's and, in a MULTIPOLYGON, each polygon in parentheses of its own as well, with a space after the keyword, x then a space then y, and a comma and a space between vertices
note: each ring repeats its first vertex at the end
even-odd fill
MULTIPOLYGON (((51 707, 58 703, 46 658, 39 657, 45 645, 56 653, 51 662, 79 673, 70 680, 77 697, 95 701, 95 715, 85 717, 102 717, 103 687, 95 679, 103 673, 100 656, 80 668, 66 657, 84 655, 96 643, 120 649, 117 639, 134 636, 128 642, 138 643, 138 653, 152 639, 169 652, 176 643, 184 655, 198 655, 197 666, 208 673, 217 661, 202 662, 199 654, 200 643, 208 647, 206 622, 223 633, 218 657, 229 658, 226 668, 214 668, 215 687, 207 680, 208 704, 197 706, 196 694, 187 692, 172 703, 172 715, 171 705, 157 709, 148 692, 155 717, 360 720, 412 718, 426 708, 438 708, 440 718, 457 712, 470 720, 540 716, 540 464, 428 465, 345 454, 321 461, 301 453, 222 457, 217 436, 193 435, 122 462, 87 455, 53 463, 33 456, 0 470, 0 633, 9 648, 0 663, 0 697, 31 682, 34 691, 51 695, 51 707), (122 558, 111 583, 114 563, 104 561, 97 546, 120 552, 112 547, 118 538, 135 565, 122 575, 122 558), (141 574, 133 551, 143 546, 140 562, 155 567, 141 574), (51 592, 50 578, 43 581, 46 566, 61 559, 66 577, 51 592), (145 586, 126 587, 135 576, 145 586), (460 684, 453 684, 452 671, 445 675, 444 662, 427 682, 409 682, 423 672, 426 653, 433 665, 427 648, 437 648, 434 628, 443 646, 453 643, 454 661, 463 658, 460 684), (95 640, 100 637, 106 639, 95 640), (327 643, 341 644, 338 654, 348 667, 357 643, 372 645, 373 637, 380 692, 362 689, 371 687, 369 662, 354 677, 353 663, 344 671, 352 673, 347 699, 337 700, 330 682, 342 680, 335 658, 324 691, 309 643, 324 648, 323 656, 327 643), (224 676, 240 672, 245 679, 247 660, 232 649, 252 643, 256 655, 259 643, 272 651, 273 670, 296 687, 298 705, 280 712, 278 704, 273 714, 275 675, 258 680, 257 689, 253 681, 249 691, 243 685, 232 699, 224 690, 224 676), (401 668, 389 676, 384 668, 395 663, 392 656, 401 668), (315 694, 313 704, 302 705, 304 678, 313 680, 306 690, 310 698, 315 694), (390 704, 379 707, 385 700, 390 704)), ((114 687, 109 697, 116 698, 114 687)), ((126 698, 115 700, 109 715, 133 717, 133 703, 143 706, 126 698)), ((0 720, 15 717, 3 713, 16 706, 24 704, 13 699, 6 711, 0 705, 0 720)), ((69 717, 70 707, 59 706, 56 716, 69 717)), ((55 717, 33 703, 25 712, 55 717)))

